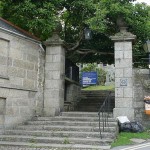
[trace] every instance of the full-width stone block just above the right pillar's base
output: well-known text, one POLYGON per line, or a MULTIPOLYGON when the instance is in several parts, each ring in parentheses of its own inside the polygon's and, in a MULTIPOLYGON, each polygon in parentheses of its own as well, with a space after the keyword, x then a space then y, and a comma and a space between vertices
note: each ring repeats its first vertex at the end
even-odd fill
POLYGON ((132 98, 115 98, 116 108, 133 108, 132 98))

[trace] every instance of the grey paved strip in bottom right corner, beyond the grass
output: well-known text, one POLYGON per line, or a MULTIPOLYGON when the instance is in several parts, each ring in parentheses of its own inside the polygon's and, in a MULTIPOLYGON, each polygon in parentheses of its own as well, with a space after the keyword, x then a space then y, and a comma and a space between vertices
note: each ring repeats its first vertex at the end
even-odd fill
POLYGON ((150 142, 138 144, 138 145, 134 145, 134 146, 115 147, 112 150, 150 150, 150 142))

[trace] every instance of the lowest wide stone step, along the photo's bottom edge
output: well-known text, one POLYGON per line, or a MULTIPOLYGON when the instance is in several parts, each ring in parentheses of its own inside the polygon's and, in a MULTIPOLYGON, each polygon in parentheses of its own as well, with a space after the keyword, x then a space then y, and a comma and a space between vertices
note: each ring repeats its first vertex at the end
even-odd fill
MULTIPOLYGON (((12 150, 13 147, 16 149, 21 150, 33 150, 33 148, 46 148, 46 150, 109 150, 110 146, 100 146, 100 145, 82 145, 82 144, 46 144, 46 143, 25 143, 25 142, 6 142, 6 141, 0 141, 0 145, 6 146, 6 150, 12 150), (9 149, 8 146, 11 146, 9 149), (13 146, 13 147, 12 147, 13 146), (25 148, 25 149, 24 149, 25 148), (27 148, 27 149, 26 149, 27 148)), ((15 150, 15 149, 13 149, 15 150)), ((44 149, 45 150, 45 149, 44 149)))

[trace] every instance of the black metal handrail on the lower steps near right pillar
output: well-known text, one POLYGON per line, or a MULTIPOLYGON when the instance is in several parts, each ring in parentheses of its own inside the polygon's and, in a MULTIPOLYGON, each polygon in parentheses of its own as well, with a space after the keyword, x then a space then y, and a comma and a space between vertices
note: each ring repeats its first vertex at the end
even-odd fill
POLYGON ((99 116, 99 133, 100 138, 102 139, 102 131, 101 131, 101 118, 102 118, 102 129, 105 131, 105 127, 108 127, 108 117, 110 114, 110 100, 111 100, 111 91, 109 91, 106 96, 103 104, 101 105, 98 116, 99 116))

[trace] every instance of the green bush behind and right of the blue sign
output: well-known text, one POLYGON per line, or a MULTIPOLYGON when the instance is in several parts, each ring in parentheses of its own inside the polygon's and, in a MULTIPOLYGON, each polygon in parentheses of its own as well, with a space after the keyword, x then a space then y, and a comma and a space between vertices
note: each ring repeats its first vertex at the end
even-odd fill
POLYGON ((81 69, 82 72, 91 72, 91 71, 96 71, 98 75, 98 85, 104 85, 106 81, 106 72, 102 68, 98 68, 97 64, 91 63, 91 64, 86 64, 85 67, 81 69))

